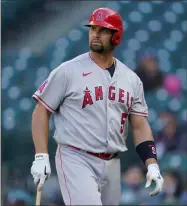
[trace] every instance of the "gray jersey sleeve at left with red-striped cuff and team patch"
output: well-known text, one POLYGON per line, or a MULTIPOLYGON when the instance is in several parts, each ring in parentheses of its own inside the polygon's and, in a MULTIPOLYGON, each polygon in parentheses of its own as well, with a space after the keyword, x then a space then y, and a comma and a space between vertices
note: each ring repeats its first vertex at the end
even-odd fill
POLYGON ((33 98, 39 101, 50 112, 55 113, 58 106, 66 96, 68 77, 65 68, 57 67, 33 94, 33 98))

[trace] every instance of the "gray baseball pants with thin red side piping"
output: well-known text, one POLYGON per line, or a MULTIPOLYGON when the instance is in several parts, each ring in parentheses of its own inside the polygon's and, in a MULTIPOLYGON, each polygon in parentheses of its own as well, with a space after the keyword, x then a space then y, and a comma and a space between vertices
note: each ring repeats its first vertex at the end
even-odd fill
POLYGON ((103 160, 58 145, 56 169, 66 205, 119 205, 120 159, 103 160))

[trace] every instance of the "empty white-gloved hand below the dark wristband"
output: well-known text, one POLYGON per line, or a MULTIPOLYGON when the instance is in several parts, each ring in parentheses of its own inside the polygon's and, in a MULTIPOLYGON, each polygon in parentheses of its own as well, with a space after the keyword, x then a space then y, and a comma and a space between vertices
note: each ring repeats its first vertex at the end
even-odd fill
POLYGON ((162 178, 160 174, 160 170, 157 164, 149 164, 147 169, 148 169, 148 172, 146 175, 147 182, 146 182, 145 188, 149 187, 152 181, 154 181, 156 183, 156 187, 152 192, 149 193, 151 196, 154 196, 154 195, 159 194, 162 191, 164 179, 162 178))

